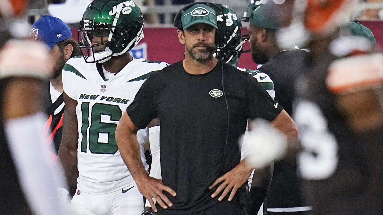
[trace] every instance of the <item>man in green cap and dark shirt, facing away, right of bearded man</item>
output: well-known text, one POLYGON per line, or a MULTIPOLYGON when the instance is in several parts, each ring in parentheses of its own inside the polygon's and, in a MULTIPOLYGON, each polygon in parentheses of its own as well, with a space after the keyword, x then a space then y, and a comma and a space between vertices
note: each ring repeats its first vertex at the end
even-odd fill
MULTIPOLYGON (((291 116, 294 86, 303 73, 303 65, 308 52, 297 46, 280 48, 275 37, 280 28, 278 9, 273 1, 256 1, 249 4, 244 21, 248 21, 250 49, 253 61, 262 64, 258 68, 270 76, 275 84, 275 101, 291 116)), ((303 215, 311 207, 301 198, 301 184, 295 163, 277 161, 274 163, 273 178, 267 193, 267 213, 269 215, 303 215)))

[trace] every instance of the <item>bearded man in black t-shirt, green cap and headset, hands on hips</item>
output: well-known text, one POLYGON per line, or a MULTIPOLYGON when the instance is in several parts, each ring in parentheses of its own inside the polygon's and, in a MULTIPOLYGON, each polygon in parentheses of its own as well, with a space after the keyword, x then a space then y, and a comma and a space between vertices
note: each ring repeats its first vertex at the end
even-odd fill
POLYGON ((237 140, 247 119, 260 117, 298 136, 290 116, 255 78, 213 57, 224 41, 218 26, 226 21, 217 23, 212 7, 193 3, 177 13, 185 59, 151 73, 116 129, 121 156, 156 214, 241 214, 237 190, 252 168, 240 161, 237 140), (157 117, 162 181, 142 166, 136 137, 157 117))

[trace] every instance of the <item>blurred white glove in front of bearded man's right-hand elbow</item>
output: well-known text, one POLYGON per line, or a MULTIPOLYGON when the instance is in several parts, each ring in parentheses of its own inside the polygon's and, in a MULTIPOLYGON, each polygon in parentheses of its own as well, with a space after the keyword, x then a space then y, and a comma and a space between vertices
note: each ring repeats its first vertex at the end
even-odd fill
POLYGON ((287 150, 285 136, 274 129, 270 122, 263 119, 255 119, 251 123, 252 130, 246 138, 244 135, 241 137, 243 144, 248 146, 246 159, 250 165, 254 168, 262 168, 282 158, 287 150))

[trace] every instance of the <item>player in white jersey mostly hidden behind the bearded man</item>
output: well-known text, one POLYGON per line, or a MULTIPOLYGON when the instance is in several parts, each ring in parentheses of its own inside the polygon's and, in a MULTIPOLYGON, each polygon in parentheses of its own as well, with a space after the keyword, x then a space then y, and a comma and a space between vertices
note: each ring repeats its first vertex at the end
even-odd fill
MULTIPOLYGON (((215 56, 217 58, 222 59, 224 62, 233 65, 234 67, 237 67, 239 57, 242 52, 242 45, 247 41, 241 41, 242 33, 242 24, 239 17, 236 15, 236 13, 227 5, 215 3, 218 5, 222 12, 224 13, 224 16, 226 16, 226 26, 225 26, 225 33, 228 35, 228 39, 226 41, 226 45, 218 49, 217 54, 215 56)), ((221 11, 217 12, 217 20, 224 21, 223 15, 221 14, 221 11)), ((275 91, 274 91, 274 83, 268 77, 266 73, 263 73, 259 70, 252 70, 252 69, 246 69, 246 68, 239 68, 237 69, 249 73, 252 77, 256 78, 257 81, 265 88, 265 90, 268 92, 268 94, 274 99, 275 97, 275 91)), ((154 178, 161 179, 161 168, 160 168, 160 139, 159 139, 159 121, 157 119, 156 121, 152 121, 151 124, 149 124, 149 138, 150 138, 150 149, 152 153, 152 166, 151 166, 151 172, 150 176, 154 178)), ((246 131, 247 134, 247 131, 246 131)), ((247 138, 247 135, 245 135, 245 138, 247 138)), ((244 143, 247 143, 245 141, 244 143)), ((242 145, 241 148, 241 160, 244 159, 247 155, 247 151, 249 145, 242 145)), ((263 171, 264 172, 264 171, 263 171)), ((262 171, 257 170, 257 174, 262 174, 262 171)), ((250 175, 249 178, 249 187, 251 187, 252 179, 253 179, 254 171, 250 175)), ((264 174, 262 174, 264 175, 264 174)), ((268 176, 265 176, 266 178, 268 176)), ((270 176, 271 177, 271 176, 270 176)), ((270 178, 271 179, 271 178, 270 178)), ((145 209, 142 215, 151 215, 151 205, 149 204, 149 201, 146 200, 145 209)), ((259 210, 259 214, 263 214, 263 208, 261 207, 261 210, 259 210)))

